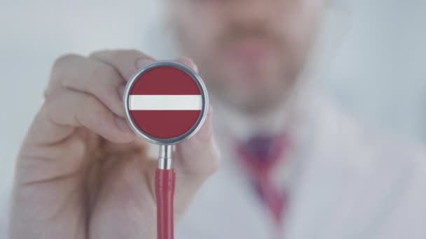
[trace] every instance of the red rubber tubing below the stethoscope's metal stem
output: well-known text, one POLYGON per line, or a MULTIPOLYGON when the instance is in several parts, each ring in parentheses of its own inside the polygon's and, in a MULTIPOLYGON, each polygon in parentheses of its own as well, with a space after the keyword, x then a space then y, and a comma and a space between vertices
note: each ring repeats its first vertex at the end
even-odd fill
POLYGON ((174 238, 173 197, 175 184, 176 171, 174 170, 174 168, 157 168, 157 239, 174 238))

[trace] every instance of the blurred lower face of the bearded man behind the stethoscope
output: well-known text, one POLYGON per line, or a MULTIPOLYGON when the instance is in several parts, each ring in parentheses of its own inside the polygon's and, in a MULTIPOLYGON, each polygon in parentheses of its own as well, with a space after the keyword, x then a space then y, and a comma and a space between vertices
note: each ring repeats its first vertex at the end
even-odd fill
POLYGON ((303 70, 323 0, 170 0, 182 53, 209 92, 238 110, 285 99, 303 70))

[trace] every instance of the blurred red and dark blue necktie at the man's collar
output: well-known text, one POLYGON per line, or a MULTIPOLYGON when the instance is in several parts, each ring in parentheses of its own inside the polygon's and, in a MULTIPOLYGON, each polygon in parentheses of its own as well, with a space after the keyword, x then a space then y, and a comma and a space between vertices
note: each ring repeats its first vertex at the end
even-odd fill
POLYGON ((284 134, 277 136, 259 135, 245 143, 238 143, 237 158, 254 182, 254 188, 266 205, 277 226, 282 225, 282 215, 287 203, 283 189, 271 181, 274 166, 282 159, 288 145, 284 134))

